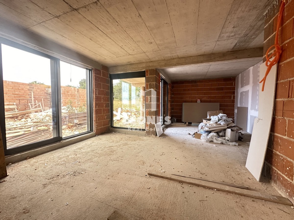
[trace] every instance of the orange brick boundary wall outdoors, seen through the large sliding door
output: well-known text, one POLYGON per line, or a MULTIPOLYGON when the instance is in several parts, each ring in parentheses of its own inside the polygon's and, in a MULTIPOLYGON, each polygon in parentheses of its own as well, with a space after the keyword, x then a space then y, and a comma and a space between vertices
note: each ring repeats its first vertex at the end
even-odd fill
MULTIPOLYGON (((4 102, 5 105, 18 104, 18 99, 29 99, 32 103, 33 92, 34 102, 44 102, 44 107, 51 108, 51 86, 43 84, 29 84, 22 82, 3 81, 4 84, 4 102)), ((72 106, 77 108, 86 104, 86 89, 78 89, 75 87, 61 86, 62 106, 67 106, 69 100, 72 101, 72 106)), ((25 103, 24 100, 21 103, 25 103)), ((43 105, 43 104, 42 104, 43 105)), ((28 109, 28 108, 26 108, 28 109)), ((10 111, 11 109, 6 109, 10 111)), ((20 106, 19 111, 24 111, 24 106, 20 106)))

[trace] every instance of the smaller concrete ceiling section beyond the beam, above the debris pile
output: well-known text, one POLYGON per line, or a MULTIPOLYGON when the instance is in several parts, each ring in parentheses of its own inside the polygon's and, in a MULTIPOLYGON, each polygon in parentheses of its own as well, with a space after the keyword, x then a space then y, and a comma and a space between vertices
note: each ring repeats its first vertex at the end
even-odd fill
POLYGON ((158 69, 159 72, 167 76, 171 81, 195 80, 195 79, 215 79, 235 77, 241 72, 252 67, 260 58, 248 58, 240 60, 214 62, 210 64, 183 65, 171 68, 158 69))

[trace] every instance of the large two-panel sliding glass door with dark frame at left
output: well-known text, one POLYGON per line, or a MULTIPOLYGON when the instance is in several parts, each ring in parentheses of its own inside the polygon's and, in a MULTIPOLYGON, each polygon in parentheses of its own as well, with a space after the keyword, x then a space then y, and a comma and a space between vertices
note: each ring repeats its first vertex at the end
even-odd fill
POLYGON ((4 38, 0 45, 0 125, 6 155, 92 131, 90 70, 4 38))

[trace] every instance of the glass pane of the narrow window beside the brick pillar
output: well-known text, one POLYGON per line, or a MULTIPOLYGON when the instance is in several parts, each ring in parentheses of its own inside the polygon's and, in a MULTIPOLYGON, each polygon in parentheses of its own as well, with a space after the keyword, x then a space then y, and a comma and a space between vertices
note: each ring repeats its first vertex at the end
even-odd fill
POLYGON ((145 77, 114 79, 113 126, 145 129, 145 77))

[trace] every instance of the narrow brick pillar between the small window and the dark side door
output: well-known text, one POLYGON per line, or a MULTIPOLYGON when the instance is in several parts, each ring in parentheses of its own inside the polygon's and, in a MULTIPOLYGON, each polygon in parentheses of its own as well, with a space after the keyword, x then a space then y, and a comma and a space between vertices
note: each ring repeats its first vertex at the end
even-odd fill
MULTIPOLYGON (((146 135, 156 136, 155 125, 148 119, 160 116, 160 74, 157 70, 146 70, 146 135), (150 89, 150 90, 149 90, 150 89), (149 91, 148 91, 149 90, 149 91)), ((157 120, 157 119, 156 119, 157 120)), ((157 122, 157 121, 155 121, 157 122)))

